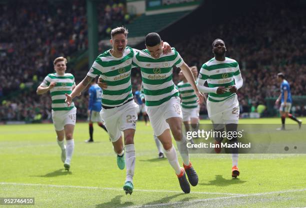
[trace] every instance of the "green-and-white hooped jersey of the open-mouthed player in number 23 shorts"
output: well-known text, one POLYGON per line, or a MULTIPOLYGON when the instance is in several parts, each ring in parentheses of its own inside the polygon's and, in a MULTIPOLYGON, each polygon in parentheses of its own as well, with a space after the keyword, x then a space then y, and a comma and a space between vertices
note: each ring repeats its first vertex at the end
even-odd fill
POLYGON ((93 62, 87 76, 100 76, 107 83, 107 88, 102 89, 101 101, 104 106, 120 106, 133 98, 130 82, 133 56, 134 50, 130 47, 125 47, 120 58, 112 56, 110 50, 107 50, 93 62))

